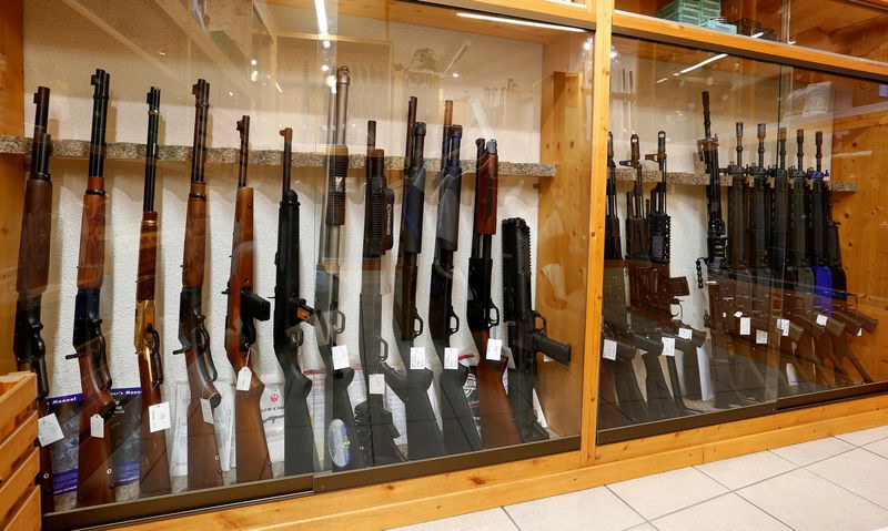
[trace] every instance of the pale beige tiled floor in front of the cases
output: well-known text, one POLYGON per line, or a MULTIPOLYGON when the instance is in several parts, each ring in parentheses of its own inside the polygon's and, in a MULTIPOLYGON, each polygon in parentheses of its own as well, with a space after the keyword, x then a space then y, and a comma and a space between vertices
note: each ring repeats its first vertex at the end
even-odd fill
POLYGON ((888 426, 398 531, 888 529, 888 426))

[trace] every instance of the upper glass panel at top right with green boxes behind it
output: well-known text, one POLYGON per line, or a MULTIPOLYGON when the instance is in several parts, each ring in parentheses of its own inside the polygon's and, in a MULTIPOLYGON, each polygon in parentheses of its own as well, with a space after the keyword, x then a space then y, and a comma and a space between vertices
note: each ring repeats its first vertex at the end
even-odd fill
POLYGON ((755 39, 888 61, 879 1, 617 0, 616 9, 755 39))

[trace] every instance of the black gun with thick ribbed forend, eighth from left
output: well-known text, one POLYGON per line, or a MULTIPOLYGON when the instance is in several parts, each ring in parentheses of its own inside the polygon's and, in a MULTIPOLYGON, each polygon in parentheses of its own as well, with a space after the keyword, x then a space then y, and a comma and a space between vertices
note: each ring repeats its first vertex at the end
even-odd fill
POLYGON ((369 464, 392 464, 405 461, 395 439, 401 433, 385 409, 384 371, 380 366, 389 358, 389 344, 382 337, 382 257, 392 248, 395 195, 385 180, 385 152, 376 149, 376 122, 367 122, 367 154, 364 162, 364 245, 361 270, 359 336, 361 366, 367 399, 354 408, 359 448, 369 464))

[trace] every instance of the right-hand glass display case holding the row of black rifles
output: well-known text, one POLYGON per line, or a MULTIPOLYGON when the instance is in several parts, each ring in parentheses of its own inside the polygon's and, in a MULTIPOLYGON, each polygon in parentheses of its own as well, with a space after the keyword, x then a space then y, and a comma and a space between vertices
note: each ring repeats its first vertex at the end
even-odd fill
POLYGON ((599 442, 888 388, 882 88, 614 39, 599 442))

